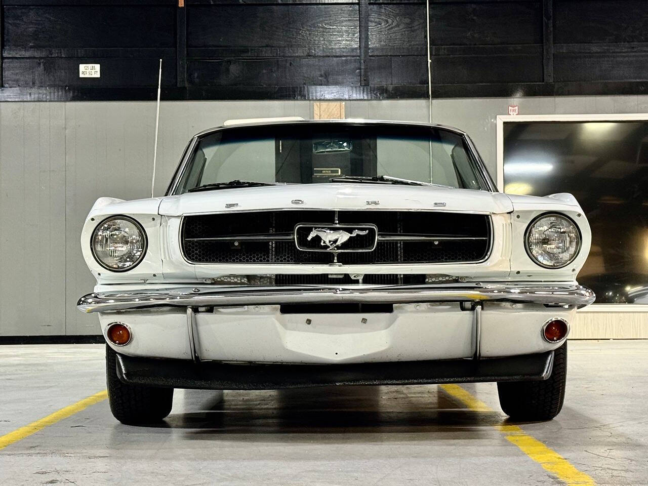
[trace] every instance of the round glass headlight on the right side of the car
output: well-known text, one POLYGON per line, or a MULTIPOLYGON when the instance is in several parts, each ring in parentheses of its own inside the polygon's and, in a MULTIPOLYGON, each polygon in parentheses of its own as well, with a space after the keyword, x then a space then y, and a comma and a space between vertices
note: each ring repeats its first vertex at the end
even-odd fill
POLYGON ((562 214, 541 214, 527 227, 524 238, 531 260, 544 268, 570 264, 581 249, 581 232, 562 214))

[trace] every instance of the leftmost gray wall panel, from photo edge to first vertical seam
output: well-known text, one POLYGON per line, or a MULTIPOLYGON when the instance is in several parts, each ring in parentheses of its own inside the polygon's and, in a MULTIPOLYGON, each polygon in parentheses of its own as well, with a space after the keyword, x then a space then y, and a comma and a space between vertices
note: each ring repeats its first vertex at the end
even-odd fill
POLYGON ((0 105, 0 333, 65 333, 65 106, 0 105))

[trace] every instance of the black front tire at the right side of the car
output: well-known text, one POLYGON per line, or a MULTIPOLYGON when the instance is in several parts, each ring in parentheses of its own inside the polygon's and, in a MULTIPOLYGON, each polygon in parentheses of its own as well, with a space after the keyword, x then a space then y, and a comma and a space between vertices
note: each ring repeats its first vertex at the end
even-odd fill
POLYGON ((500 406, 515 421, 546 421, 558 415, 565 397, 567 342, 553 352, 553 370, 547 380, 499 382, 500 406))

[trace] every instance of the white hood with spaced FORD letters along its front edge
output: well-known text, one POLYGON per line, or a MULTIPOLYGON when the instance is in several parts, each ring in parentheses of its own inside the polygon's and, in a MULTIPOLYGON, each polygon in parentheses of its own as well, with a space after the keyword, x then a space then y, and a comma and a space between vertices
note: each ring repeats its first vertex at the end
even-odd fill
POLYGON ((216 213, 259 209, 408 209, 467 213, 510 213, 511 200, 497 192, 443 186, 369 183, 291 184, 167 196, 159 214, 216 213), (378 202, 376 204, 375 202, 378 202), (371 203, 369 203, 371 202, 371 203))

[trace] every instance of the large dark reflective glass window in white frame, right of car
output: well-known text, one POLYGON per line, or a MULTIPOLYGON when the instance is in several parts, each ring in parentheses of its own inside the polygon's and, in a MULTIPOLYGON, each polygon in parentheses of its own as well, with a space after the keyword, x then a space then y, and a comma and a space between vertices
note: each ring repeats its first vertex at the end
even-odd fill
POLYGON ((648 304, 648 122, 505 122, 504 192, 571 192, 592 226, 580 283, 648 304))

